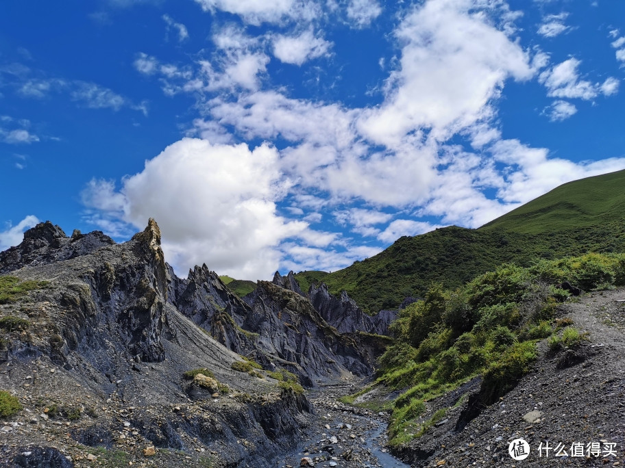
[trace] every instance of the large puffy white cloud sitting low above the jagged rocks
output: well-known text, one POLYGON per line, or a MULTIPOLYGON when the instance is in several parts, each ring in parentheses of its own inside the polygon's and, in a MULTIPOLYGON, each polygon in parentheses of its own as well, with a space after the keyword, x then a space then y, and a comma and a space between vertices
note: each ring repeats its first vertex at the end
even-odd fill
POLYGON ((278 244, 306 236, 308 226, 276 213, 289 183, 277 163, 278 151, 265 144, 250 151, 184 138, 123 179, 119 192, 94 181, 83 200, 137 228, 155 218, 167 260, 179 272, 206 262, 236 278, 267 278, 278 268, 278 244))

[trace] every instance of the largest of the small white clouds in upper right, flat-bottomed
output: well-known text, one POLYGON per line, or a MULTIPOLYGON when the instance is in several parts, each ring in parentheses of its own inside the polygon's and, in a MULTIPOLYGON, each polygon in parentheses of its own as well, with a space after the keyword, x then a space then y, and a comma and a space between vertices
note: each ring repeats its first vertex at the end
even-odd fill
POLYGON ((618 81, 613 77, 606 79, 604 83, 591 83, 591 81, 580 79, 577 69, 581 63, 580 60, 571 57, 543 71, 539 76, 539 81, 547 88, 547 95, 588 101, 599 94, 609 96, 616 92, 618 81))

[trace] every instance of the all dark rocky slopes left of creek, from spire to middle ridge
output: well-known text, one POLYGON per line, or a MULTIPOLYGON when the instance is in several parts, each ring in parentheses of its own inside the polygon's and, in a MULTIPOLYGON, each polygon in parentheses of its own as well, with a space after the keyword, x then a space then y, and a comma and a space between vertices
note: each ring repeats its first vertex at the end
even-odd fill
POLYGON ((246 302, 206 266, 177 278, 153 220, 124 244, 38 224, 0 273, 47 282, 0 304, 0 390, 23 407, 0 421, 3 466, 273 466, 316 417, 271 372, 348 382, 384 346, 273 283, 246 302))

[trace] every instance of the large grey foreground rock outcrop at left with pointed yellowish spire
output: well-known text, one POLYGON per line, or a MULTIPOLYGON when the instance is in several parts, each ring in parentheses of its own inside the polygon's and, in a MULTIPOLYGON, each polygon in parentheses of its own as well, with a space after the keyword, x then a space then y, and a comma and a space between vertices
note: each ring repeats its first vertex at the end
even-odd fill
POLYGON ((244 364, 241 356, 211 336, 237 352, 260 350, 249 338, 256 335, 240 326, 252 308, 206 266, 177 278, 164 262, 154 220, 124 244, 98 233, 66 237, 42 223, 1 254, 0 268, 21 281, 47 281, 24 302, 0 304, 0 317, 17 315, 26 324, 0 328, 0 361, 10 369, 0 373, 0 389, 28 409, 3 434, 1 460, 9 466, 55 457, 50 445, 67 447, 66 430, 35 426, 52 417, 39 401, 73 408, 62 414, 79 418, 71 437, 84 445, 114 443, 125 456, 138 452, 138 460, 150 446, 184 451, 182 459, 155 452, 164 466, 194 456, 197 465, 265 467, 297 442, 310 411, 306 398, 260 369, 237 372, 232 364, 244 364), (208 369, 217 396, 186 391, 194 381, 184 373, 196 368, 208 369), (40 430, 24 432, 24 424, 40 430), (9 448, 24 444, 42 447, 41 454, 9 448))

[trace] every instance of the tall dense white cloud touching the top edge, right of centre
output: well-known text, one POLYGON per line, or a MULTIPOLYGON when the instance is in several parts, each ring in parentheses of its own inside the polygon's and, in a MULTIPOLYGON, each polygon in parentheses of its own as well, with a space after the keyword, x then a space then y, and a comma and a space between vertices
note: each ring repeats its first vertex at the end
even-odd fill
POLYGON ((485 14, 471 14, 473 2, 427 1, 395 31, 402 44, 400 68, 391 73, 384 103, 358 123, 371 141, 396 146, 404 135, 432 128, 449 136, 488 118, 508 78, 535 74, 530 55, 485 14))

